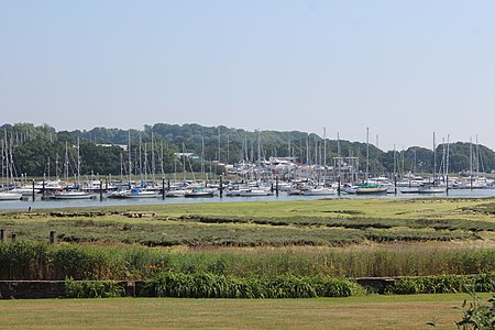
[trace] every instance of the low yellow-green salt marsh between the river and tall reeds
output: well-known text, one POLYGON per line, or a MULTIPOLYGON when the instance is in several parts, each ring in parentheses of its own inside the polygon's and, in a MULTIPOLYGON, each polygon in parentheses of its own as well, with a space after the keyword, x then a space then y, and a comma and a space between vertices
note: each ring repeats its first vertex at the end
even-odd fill
POLYGON ((147 246, 342 246, 480 240, 495 232, 490 199, 331 199, 7 212, 0 228, 40 240, 147 246))

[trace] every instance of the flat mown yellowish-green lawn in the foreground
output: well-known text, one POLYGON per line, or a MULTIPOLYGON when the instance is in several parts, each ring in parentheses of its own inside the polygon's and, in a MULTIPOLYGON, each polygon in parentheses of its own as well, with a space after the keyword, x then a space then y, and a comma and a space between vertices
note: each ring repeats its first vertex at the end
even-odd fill
MULTIPOLYGON (((491 295, 481 295, 484 301, 491 295)), ((3 329, 455 329, 468 295, 0 300, 3 329)))

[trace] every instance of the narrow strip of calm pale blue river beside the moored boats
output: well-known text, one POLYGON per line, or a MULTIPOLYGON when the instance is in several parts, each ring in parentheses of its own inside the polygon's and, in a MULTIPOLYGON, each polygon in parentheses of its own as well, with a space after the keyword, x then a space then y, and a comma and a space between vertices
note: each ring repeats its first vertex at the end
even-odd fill
MULTIPOLYGON (((471 197, 483 198, 494 197, 495 189, 452 189, 449 190, 448 198, 457 197, 471 197)), ((393 194, 387 195, 344 195, 341 198, 363 199, 363 198, 444 198, 446 194, 432 194, 432 195, 418 195, 418 194, 400 194, 396 196, 393 194)), ((210 197, 210 198, 143 198, 143 199, 108 199, 99 200, 99 196, 89 200, 41 200, 37 199, 34 202, 30 199, 22 199, 15 201, 0 201, 0 210, 31 210, 35 209, 52 209, 52 208, 68 208, 68 207, 100 207, 100 206, 131 206, 131 205, 170 205, 170 204, 197 204, 197 202, 240 202, 240 201, 260 201, 260 200, 315 200, 321 199, 321 196, 288 196, 286 193, 280 193, 276 196, 264 197, 210 197)), ((336 196, 326 196, 324 198, 339 198, 336 196)))

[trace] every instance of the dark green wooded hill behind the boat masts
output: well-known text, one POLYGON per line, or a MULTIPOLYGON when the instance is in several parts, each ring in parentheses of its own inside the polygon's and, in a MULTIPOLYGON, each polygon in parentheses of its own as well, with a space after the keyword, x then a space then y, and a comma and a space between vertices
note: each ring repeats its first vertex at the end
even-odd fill
POLYGON ((165 175, 184 168, 199 172, 204 166, 219 174, 224 170, 219 164, 270 157, 294 157, 302 164, 327 166, 334 166, 338 157, 343 162, 355 158, 361 170, 367 158, 371 175, 433 173, 433 168, 441 173, 447 165, 449 173, 495 170, 495 152, 470 142, 441 143, 435 153, 420 146, 385 152, 366 142, 323 140, 318 134, 300 131, 250 132, 196 123, 89 131, 56 131, 48 124, 15 123, 0 127, 0 140, 2 176, 7 174, 9 160, 11 175, 62 177, 69 173, 73 176, 77 167, 77 146, 80 175, 127 176, 129 168, 134 175, 143 172, 165 175), (131 153, 127 150, 129 146, 131 153), (196 153, 204 161, 185 161, 176 153, 196 153))

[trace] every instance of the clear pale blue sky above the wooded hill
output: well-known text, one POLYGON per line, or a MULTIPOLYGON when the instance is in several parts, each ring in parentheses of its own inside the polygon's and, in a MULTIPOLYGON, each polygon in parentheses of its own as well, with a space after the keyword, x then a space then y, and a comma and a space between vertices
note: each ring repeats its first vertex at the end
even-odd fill
POLYGON ((0 124, 495 150, 495 1, 0 0, 0 124))

